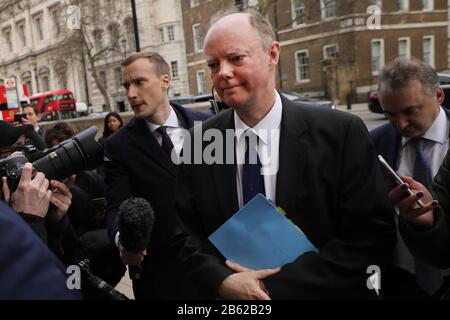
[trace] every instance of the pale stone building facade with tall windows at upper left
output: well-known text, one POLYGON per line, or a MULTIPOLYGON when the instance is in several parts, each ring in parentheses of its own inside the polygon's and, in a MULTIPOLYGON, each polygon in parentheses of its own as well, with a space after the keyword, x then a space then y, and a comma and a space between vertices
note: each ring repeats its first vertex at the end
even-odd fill
MULTIPOLYGON (((69 89, 78 101, 90 104, 92 111, 102 111, 104 98, 85 49, 80 43, 67 43, 78 19, 84 23, 97 80, 105 87, 111 108, 127 109, 120 63, 135 51, 130 1, 80 0, 80 17, 69 8, 71 3, 0 0, 0 83, 14 77, 26 83, 31 94, 69 89)), ((165 57, 173 77, 171 94, 188 94, 179 0, 136 0, 136 9, 141 51, 152 50, 165 57)))

